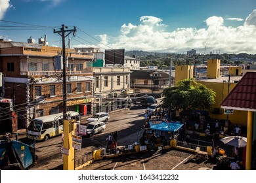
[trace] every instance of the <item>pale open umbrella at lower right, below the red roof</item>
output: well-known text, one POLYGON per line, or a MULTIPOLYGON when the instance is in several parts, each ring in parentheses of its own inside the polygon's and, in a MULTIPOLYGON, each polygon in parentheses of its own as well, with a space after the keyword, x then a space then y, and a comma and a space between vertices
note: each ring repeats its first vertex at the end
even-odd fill
POLYGON ((241 136, 229 136, 229 137, 224 137, 221 139, 224 144, 234 146, 237 148, 243 148, 247 144, 247 138, 246 137, 241 137, 241 136))

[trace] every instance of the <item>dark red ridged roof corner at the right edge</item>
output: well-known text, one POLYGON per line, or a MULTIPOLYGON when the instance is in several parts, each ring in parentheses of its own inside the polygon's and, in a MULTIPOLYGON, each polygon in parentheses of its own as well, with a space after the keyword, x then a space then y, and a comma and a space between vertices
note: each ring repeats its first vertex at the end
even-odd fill
POLYGON ((247 72, 221 102, 221 107, 256 110, 256 72, 247 72))

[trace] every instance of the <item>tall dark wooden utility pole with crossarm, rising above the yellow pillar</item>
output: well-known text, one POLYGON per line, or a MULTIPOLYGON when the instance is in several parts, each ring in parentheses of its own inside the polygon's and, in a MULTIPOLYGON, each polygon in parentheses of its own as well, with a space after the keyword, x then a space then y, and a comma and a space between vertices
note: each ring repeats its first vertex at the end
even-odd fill
POLYGON ((62 62, 63 62, 63 118, 67 117, 67 92, 66 92, 66 48, 65 48, 65 38, 73 32, 75 36, 76 29, 68 29, 64 24, 62 24, 60 31, 53 30, 53 33, 58 33, 62 37, 62 62), (65 28, 67 30, 65 30, 65 28), (65 33, 68 32, 66 35, 65 33))

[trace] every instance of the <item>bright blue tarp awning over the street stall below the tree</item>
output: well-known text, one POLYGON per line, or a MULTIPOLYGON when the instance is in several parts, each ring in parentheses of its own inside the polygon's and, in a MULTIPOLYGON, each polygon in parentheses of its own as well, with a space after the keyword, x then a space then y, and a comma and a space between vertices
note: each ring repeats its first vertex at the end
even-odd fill
POLYGON ((178 131, 183 124, 179 122, 162 122, 162 121, 155 121, 150 122, 150 129, 155 129, 159 131, 168 131, 168 132, 175 132, 178 131))

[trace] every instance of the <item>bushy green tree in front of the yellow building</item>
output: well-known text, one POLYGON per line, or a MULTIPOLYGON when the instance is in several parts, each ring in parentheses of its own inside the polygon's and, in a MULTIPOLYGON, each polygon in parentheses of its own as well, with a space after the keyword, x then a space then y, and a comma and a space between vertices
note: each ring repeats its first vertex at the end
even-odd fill
POLYGON ((163 90, 162 105, 175 110, 209 110, 215 102, 216 93, 195 80, 185 79, 177 86, 163 90))

